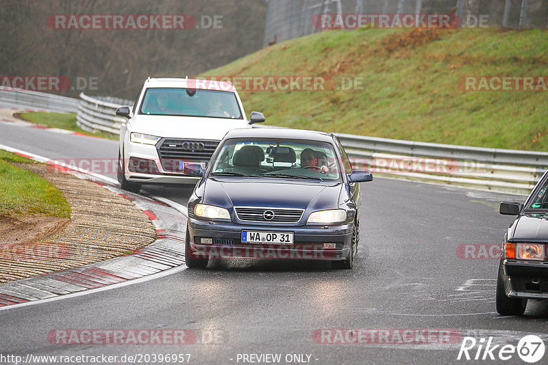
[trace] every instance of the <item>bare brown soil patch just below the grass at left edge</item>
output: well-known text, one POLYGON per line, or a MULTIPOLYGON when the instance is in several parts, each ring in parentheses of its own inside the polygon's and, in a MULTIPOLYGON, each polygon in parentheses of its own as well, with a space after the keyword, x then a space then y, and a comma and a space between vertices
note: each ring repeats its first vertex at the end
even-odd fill
POLYGON ((66 227, 70 218, 38 216, 0 217, 0 245, 33 243, 66 227))

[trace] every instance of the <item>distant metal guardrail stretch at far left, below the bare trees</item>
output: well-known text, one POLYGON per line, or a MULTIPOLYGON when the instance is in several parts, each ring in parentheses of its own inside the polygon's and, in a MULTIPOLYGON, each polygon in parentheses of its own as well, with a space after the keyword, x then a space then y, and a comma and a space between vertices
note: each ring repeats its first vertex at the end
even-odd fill
POLYGON ((62 113, 76 113, 78 110, 76 98, 3 86, 0 86, 0 103, 62 113))

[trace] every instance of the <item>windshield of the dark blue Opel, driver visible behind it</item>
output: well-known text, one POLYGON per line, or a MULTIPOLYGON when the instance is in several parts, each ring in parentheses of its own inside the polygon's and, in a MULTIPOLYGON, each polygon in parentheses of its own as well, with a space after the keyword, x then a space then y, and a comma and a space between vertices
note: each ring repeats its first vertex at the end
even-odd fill
POLYGON ((229 139, 217 154, 212 176, 340 180, 331 144, 296 139, 229 139))

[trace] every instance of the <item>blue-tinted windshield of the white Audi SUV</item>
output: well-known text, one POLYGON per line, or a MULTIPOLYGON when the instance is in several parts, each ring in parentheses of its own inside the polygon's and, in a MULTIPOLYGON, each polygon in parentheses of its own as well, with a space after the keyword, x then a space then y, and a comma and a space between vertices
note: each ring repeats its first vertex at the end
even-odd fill
POLYGON ((234 92, 149 87, 142 98, 140 114, 242 119, 234 92))

